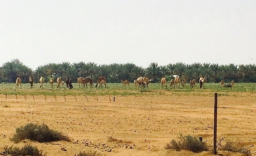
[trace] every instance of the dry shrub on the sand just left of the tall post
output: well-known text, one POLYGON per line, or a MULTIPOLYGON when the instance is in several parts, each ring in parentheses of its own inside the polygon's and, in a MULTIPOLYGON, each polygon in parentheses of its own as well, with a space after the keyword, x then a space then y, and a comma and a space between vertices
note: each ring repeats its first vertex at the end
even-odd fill
POLYGON ((191 135, 183 136, 180 134, 178 137, 179 141, 172 140, 170 143, 167 143, 165 150, 175 149, 176 151, 180 150, 189 150, 192 152, 202 152, 208 151, 206 143, 201 142, 198 138, 192 137, 191 135))

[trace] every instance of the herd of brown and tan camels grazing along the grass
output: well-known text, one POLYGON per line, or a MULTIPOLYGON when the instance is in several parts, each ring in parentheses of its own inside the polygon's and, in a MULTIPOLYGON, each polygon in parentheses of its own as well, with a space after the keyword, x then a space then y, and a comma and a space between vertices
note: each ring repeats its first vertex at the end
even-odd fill
MULTIPOLYGON (((16 85, 19 86, 22 88, 21 86, 21 79, 20 77, 17 77, 16 79, 16 85)), ((68 83, 70 82, 67 82, 67 81, 70 81, 71 82, 71 79, 68 80, 68 78, 63 81, 61 80, 61 78, 57 78, 56 82, 57 82, 57 88, 61 88, 61 84, 62 84, 62 87, 65 86, 65 83, 66 83, 66 86, 68 87, 68 83)), ((153 79, 149 79, 147 77, 143 77, 143 76, 140 76, 139 78, 135 79, 134 80, 134 85, 135 85, 135 88, 139 88, 139 87, 147 87, 148 88, 148 84, 150 82, 152 82, 153 79)), ((51 85, 51 88, 53 88, 53 84, 54 84, 54 78, 50 78, 49 80, 50 82, 50 85, 51 85)), ((78 86, 80 87, 80 85, 82 85, 83 87, 88 87, 87 83, 90 84, 90 87, 93 87, 93 79, 92 78, 83 78, 83 77, 79 77, 77 78, 77 82, 78 82, 78 86)), ((200 89, 201 88, 204 88, 204 82, 206 82, 206 78, 203 78, 202 76, 200 77, 199 79, 199 84, 200 84, 200 89)), ((33 76, 31 76, 29 78, 29 83, 30 83, 30 88, 33 88, 33 83, 34 83, 34 78, 33 76)), ((39 88, 43 88, 43 83, 44 83, 44 78, 41 76, 41 78, 39 79, 39 83, 40 83, 40 87, 39 88)), ((130 82, 128 80, 121 80, 121 83, 124 84, 124 86, 126 87, 126 85, 130 85, 130 82)), ((193 80, 190 80, 190 87, 193 88, 195 86, 195 79, 193 80)), ((104 78, 103 76, 100 76, 97 80, 97 83, 96 83, 96 86, 95 87, 98 87, 98 84, 99 84, 99 87, 102 87, 102 85, 105 86, 106 88, 106 78, 104 78)), ((176 76, 175 79, 171 79, 170 80, 170 87, 172 88, 180 88, 180 84, 182 85, 182 87, 185 87, 186 85, 186 80, 185 79, 180 79, 180 77, 176 76)), ((221 87, 233 87, 234 86, 234 80, 231 81, 230 84, 227 84, 225 85, 224 81, 221 80, 221 87)), ((165 77, 163 77, 161 79, 161 87, 162 88, 167 88, 167 80, 165 77)))

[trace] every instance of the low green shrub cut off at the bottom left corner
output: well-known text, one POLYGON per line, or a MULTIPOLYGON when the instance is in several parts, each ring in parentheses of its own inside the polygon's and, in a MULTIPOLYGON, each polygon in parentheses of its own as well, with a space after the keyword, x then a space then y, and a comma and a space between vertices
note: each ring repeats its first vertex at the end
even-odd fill
POLYGON ((25 145, 21 149, 19 147, 4 147, 4 151, 2 151, 3 154, 8 154, 11 156, 45 156, 42 154, 42 150, 38 150, 36 146, 32 145, 25 145))

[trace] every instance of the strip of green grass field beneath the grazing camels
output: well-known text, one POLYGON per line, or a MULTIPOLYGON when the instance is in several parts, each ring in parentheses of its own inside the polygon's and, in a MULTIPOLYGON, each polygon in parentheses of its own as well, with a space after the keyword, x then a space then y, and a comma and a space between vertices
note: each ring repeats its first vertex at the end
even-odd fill
POLYGON ((166 92, 184 92, 184 93, 212 93, 212 92, 253 92, 256 93, 256 83, 235 83, 233 88, 222 88, 219 83, 205 83, 205 89, 200 89, 199 84, 196 84, 193 89, 189 84, 186 87, 162 89, 160 83, 151 83, 149 88, 135 88, 131 83, 130 87, 124 87, 121 83, 107 83, 106 88, 83 88, 78 87, 77 83, 73 83, 74 89, 61 88, 57 89, 57 84, 54 83, 54 88, 49 90, 50 84, 44 83, 43 89, 39 89, 39 84, 34 84, 34 88, 30 89, 30 84, 22 84, 22 89, 14 83, 1 83, 0 94, 2 95, 162 95, 166 92))

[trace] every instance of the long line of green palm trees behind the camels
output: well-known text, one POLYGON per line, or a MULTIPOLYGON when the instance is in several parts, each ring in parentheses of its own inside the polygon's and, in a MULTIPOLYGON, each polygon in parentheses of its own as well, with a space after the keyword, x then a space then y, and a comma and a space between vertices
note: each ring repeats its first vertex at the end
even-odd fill
MULTIPOLYGON (((133 63, 111 65, 97 65, 96 63, 49 63, 37 67, 33 71, 28 66, 24 65, 19 59, 11 60, 4 63, 0 67, 0 82, 15 82, 17 76, 20 76, 22 83, 28 83, 30 76, 34 76, 35 82, 43 76, 46 82, 50 77, 61 77, 65 80, 67 77, 76 82, 77 78, 91 77, 94 82, 99 76, 104 76, 107 82, 119 83, 121 80, 133 82, 139 76, 147 76, 153 78, 154 82, 161 80, 163 76, 169 81, 171 75, 178 75, 189 82, 195 79, 197 82, 200 76, 206 78, 207 82, 256 82, 256 64, 249 65, 219 65, 218 63, 193 63, 185 64, 182 62, 169 63, 168 65, 159 66, 158 63, 150 63, 146 68, 139 67, 133 63)), ((56 79, 55 79, 56 80, 56 79)))

